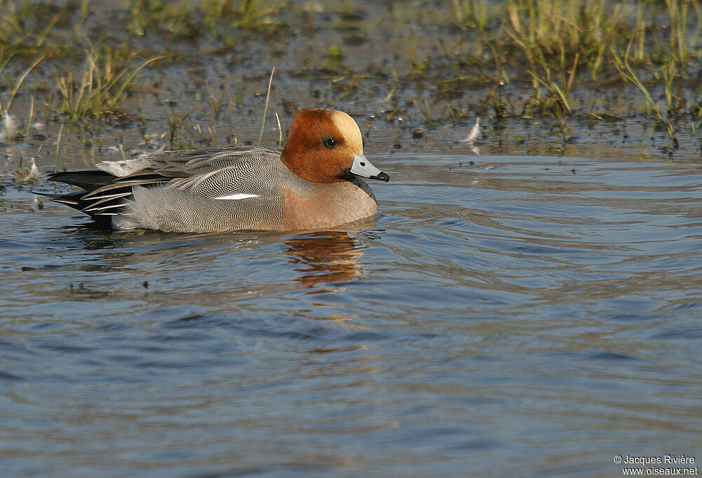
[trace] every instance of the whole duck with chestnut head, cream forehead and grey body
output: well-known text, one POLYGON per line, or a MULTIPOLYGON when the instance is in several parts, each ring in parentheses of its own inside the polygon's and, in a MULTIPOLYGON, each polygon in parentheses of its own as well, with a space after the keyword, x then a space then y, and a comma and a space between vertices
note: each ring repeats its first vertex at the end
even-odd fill
POLYGON ((164 151, 48 179, 82 191, 44 196, 114 230, 227 232, 319 230, 370 218, 378 203, 364 179, 390 176, 364 156, 352 117, 302 109, 282 150, 164 151))

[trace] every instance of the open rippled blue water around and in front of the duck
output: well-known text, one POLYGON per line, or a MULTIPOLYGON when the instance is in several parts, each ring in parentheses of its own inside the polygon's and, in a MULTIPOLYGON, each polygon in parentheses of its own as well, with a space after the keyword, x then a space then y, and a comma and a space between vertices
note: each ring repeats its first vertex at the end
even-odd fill
POLYGON ((373 154, 377 220, 105 232, 0 195, 3 477, 702 460, 702 165, 373 154))

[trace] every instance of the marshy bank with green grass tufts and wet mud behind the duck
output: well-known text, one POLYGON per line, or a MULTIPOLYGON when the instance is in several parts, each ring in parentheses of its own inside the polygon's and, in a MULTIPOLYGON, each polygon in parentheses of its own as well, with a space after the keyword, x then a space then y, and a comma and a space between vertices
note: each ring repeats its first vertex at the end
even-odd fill
MULTIPOLYGON (((0 0, 0 109, 22 124, 2 138, 43 118, 86 138, 131 124, 148 143, 147 101, 172 145, 217 144, 227 112, 263 108, 276 67, 286 114, 362 103, 411 121, 413 138, 475 116, 546 119, 564 142, 569 122, 636 118, 668 151, 696 138, 699 157, 701 29, 701 0, 0 0)), ((237 142, 228 128, 220 142, 237 142)))

